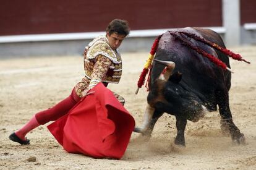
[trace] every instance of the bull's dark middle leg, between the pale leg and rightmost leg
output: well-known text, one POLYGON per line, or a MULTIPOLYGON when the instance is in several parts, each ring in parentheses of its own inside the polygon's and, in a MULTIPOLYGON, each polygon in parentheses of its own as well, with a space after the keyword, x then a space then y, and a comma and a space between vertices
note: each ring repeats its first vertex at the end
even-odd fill
POLYGON ((185 135, 184 135, 186 125, 187 125, 187 119, 176 116, 177 135, 174 140, 174 143, 176 145, 182 145, 184 147, 186 146, 185 145, 185 135))

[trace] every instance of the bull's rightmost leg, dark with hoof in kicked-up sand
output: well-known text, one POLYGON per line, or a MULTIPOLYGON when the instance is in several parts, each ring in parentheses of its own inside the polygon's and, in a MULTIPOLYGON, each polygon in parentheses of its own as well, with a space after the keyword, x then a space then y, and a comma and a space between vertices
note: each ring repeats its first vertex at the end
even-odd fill
POLYGON ((220 102, 218 103, 218 105, 222 122, 226 122, 233 142, 236 142, 238 144, 245 144, 244 134, 240 132, 240 130, 233 122, 232 114, 229 108, 228 94, 224 95, 223 93, 218 93, 218 101, 220 102))

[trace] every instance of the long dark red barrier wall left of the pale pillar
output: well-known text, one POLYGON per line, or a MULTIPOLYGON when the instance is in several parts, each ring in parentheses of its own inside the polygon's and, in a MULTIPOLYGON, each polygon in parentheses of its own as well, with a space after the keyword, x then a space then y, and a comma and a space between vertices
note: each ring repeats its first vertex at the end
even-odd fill
POLYGON ((132 30, 216 27, 221 0, 8 0, 0 5, 0 35, 98 32, 115 18, 132 30))

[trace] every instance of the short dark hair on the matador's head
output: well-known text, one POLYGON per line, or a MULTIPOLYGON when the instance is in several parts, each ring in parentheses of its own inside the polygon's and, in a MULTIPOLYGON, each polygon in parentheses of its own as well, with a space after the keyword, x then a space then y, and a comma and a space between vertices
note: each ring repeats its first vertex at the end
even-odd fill
POLYGON ((127 20, 114 19, 109 22, 106 32, 108 32, 109 35, 116 32, 117 34, 127 36, 130 33, 129 23, 127 20))

